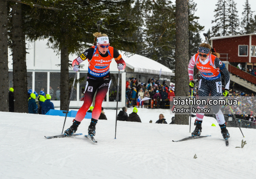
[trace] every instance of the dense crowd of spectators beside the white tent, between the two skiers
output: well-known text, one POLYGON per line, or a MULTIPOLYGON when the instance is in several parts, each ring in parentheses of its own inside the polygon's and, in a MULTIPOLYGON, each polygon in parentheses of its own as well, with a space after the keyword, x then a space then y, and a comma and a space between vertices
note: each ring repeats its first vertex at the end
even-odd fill
POLYGON ((174 91, 174 85, 167 86, 165 80, 162 84, 155 79, 148 79, 147 83, 141 83, 136 78, 131 78, 126 81, 126 105, 127 107, 169 109, 175 97, 174 91))

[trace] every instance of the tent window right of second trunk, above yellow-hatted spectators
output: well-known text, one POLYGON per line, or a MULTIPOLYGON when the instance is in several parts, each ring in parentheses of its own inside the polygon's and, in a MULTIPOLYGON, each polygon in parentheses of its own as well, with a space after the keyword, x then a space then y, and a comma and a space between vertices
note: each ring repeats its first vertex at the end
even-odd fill
MULTIPOLYGON (((32 74, 32 72, 30 72, 30 73, 32 74)), ((29 83, 28 83, 28 87, 29 87, 29 83)), ((35 91, 38 93, 38 95, 39 95, 40 91, 44 91, 44 93, 46 95, 46 93, 47 93, 47 72, 35 72, 35 91)))

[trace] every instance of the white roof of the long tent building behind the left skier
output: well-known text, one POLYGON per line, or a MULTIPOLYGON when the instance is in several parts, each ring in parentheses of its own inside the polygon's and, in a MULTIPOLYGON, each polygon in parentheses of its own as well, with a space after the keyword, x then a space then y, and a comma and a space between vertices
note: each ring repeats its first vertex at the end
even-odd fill
MULTIPOLYGON (((26 62, 28 71, 60 71, 60 54, 57 55, 53 49, 46 46, 46 43, 47 39, 37 40, 35 42, 27 42, 26 47, 28 54, 26 55, 26 62)), ((154 61, 153 59, 137 54, 125 55, 125 52, 119 53, 123 56, 126 66, 129 67, 132 72, 159 75, 159 72, 162 69, 162 75, 174 76, 172 70, 154 61)), ((9 54, 11 54, 10 49, 9 54)), ((77 55, 69 55, 69 60, 73 61, 76 57, 77 55)), ((83 69, 80 69, 80 71, 87 72, 88 64, 89 63, 87 60, 81 63, 81 65, 83 65, 83 69)), ((9 56, 9 69, 13 69, 12 56, 9 56)), ((116 62, 110 63, 110 72, 118 72, 116 62)))

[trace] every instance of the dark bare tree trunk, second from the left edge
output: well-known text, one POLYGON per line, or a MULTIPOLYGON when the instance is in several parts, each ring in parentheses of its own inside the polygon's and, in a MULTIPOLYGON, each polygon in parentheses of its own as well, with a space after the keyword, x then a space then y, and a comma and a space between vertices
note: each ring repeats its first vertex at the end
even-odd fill
POLYGON ((11 3, 11 50, 13 59, 14 112, 28 112, 27 64, 23 4, 11 3))

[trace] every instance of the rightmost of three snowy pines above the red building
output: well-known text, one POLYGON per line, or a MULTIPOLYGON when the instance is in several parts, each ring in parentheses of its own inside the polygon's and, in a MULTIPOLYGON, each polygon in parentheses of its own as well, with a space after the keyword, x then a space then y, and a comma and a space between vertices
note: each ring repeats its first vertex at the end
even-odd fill
POLYGON ((242 27, 242 34, 248 34, 252 33, 252 13, 254 11, 251 11, 251 5, 249 4, 248 0, 246 0, 244 6, 244 12, 242 13, 243 18, 241 20, 241 27, 242 27))

